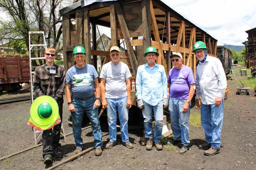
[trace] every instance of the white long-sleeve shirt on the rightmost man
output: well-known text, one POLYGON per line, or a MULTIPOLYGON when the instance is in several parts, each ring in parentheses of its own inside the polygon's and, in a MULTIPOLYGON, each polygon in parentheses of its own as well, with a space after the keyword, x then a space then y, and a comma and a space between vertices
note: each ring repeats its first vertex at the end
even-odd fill
POLYGON ((214 104, 216 97, 224 98, 227 79, 218 58, 207 56, 205 63, 196 67, 196 98, 203 104, 214 104))

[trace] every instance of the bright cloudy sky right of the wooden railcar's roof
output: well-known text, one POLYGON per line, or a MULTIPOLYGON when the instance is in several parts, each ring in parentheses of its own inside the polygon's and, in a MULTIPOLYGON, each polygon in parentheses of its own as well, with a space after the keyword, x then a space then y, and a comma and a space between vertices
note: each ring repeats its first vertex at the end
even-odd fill
POLYGON ((218 40, 218 46, 242 46, 256 27, 255 0, 163 0, 174 11, 218 40))

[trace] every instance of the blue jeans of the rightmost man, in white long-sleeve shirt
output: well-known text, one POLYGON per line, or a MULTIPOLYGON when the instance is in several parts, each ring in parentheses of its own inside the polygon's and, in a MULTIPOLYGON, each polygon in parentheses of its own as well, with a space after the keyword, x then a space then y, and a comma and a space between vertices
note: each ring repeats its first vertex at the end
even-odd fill
POLYGON ((201 123, 204 129, 207 143, 211 143, 213 149, 221 147, 221 130, 224 113, 224 100, 219 106, 215 104, 201 103, 201 123))

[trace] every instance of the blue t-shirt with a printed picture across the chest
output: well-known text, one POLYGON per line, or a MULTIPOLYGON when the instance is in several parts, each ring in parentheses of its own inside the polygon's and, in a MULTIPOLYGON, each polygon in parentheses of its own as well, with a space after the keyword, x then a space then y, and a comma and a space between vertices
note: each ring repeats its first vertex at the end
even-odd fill
POLYGON ((76 98, 88 98, 94 94, 94 79, 98 73, 94 66, 85 64, 83 68, 72 66, 66 74, 66 83, 71 84, 72 96, 76 98))

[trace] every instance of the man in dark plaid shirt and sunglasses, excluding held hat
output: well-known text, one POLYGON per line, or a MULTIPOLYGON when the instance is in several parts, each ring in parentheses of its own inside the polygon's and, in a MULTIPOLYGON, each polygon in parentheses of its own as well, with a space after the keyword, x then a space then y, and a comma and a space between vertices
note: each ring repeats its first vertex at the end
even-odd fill
MULTIPOLYGON (((33 88, 37 96, 52 96, 59 106, 60 119, 63 112, 63 92, 65 88, 65 70, 63 67, 54 64, 56 50, 47 48, 44 53, 46 64, 35 69, 33 88)), ((52 156, 60 157, 60 129, 61 123, 52 129, 43 131, 43 157, 44 163, 51 164, 52 156)))

